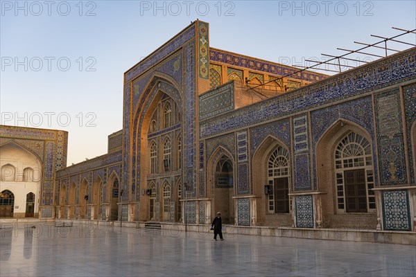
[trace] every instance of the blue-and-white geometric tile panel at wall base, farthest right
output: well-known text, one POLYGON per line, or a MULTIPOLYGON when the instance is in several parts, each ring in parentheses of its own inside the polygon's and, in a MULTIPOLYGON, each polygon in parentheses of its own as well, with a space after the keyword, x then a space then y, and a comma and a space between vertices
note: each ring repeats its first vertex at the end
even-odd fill
POLYGON ((408 190, 383 191, 381 202, 384 230, 411 230, 408 190))

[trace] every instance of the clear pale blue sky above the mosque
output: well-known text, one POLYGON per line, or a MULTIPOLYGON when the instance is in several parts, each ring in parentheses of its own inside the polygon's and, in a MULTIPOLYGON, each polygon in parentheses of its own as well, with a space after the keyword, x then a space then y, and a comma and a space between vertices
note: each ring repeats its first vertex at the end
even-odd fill
POLYGON ((123 127, 123 73, 195 19, 212 47, 308 65, 415 17, 416 1, 1 1, 1 124, 68 131, 71 165, 123 127))

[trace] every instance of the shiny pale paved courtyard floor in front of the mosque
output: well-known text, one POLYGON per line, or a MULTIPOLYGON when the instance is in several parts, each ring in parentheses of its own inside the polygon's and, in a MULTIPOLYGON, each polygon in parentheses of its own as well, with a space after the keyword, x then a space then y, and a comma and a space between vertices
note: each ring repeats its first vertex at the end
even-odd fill
POLYGON ((39 222, 0 233, 0 276, 416 276, 407 245, 39 222))

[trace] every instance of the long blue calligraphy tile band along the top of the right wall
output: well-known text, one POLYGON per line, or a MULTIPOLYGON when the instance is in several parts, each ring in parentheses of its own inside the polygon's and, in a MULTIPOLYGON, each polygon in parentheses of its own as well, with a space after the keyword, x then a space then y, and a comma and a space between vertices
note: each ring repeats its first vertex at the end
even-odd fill
POLYGON ((401 57, 388 57, 377 66, 386 66, 384 72, 373 70, 374 64, 361 66, 347 73, 336 75, 327 81, 311 84, 281 96, 263 100, 257 104, 242 107, 232 113, 218 116, 200 123, 200 137, 214 136, 232 129, 247 127, 293 114, 304 109, 322 106, 351 95, 360 95, 397 82, 410 80, 416 75, 415 54, 411 51, 401 57), (399 59, 399 60, 398 60, 399 59), (386 73, 387 72, 387 73, 386 73))

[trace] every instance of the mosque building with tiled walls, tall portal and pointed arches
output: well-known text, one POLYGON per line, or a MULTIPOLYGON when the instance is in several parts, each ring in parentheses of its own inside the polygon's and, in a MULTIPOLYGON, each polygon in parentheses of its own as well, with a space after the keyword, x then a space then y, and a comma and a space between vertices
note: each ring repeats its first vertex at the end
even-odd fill
POLYGON ((329 76, 209 44, 193 21, 124 73, 100 157, 1 126, 0 217, 414 234, 415 47, 329 76))

